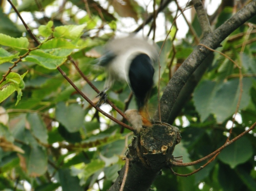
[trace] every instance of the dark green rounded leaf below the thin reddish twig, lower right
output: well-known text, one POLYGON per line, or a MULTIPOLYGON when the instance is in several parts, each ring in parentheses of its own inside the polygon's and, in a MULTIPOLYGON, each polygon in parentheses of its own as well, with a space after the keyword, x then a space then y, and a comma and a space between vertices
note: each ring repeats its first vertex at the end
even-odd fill
POLYGON ((253 150, 251 142, 246 137, 241 137, 231 145, 226 147, 220 154, 219 159, 229 164, 233 169, 238 164, 242 164, 252 157, 253 150))

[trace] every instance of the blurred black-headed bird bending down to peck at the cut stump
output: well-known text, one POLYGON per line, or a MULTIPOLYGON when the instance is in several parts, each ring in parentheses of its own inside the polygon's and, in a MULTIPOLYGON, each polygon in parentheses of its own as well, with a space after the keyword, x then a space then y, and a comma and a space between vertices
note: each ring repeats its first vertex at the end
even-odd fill
POLYGON ((126 82, 135 96, 138 110, 130 113, 127 110, 125 113, 126 116, 132 116, 128 121, 137 126, 135 129, 138 132, 141 124, 152 126, 146 105, 154 85, 154 67, 158 59, 157 45, 135 35, 110 40, 99 58, 98 64, 104 66, 106 72, 104 90, 99 93, 100 101, 106 100, 105 92, 115 81, 126 82), (138 116, 134 117, 136 114, 138 116), (136 122, 133 122, 133 118, 136 118, 136 122), (138 123, 140 118, 142 122, 138 123))

